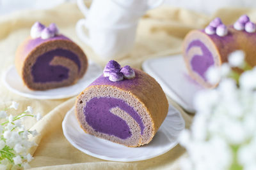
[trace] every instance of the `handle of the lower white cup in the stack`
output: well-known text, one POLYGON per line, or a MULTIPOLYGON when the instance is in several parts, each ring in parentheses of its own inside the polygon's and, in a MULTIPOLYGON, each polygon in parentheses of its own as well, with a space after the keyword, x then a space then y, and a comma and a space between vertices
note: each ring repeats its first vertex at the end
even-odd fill
POLYGON ((90 38, 88 35, 84 34, 83 27, 86 27, 86 20, 81 19, 76 23, 76 34, 79 39, 81 39, 86 45, 91 46, 90 44, 90 38))

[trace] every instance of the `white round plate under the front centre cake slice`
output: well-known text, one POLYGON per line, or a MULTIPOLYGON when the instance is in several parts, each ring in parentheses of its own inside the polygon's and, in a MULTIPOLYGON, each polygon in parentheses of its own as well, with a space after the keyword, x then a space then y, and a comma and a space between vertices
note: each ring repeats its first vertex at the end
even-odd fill
POLYGON ((67 140, 81 152, 104 160, 132 162, 150 159, 168 152, 178 144, 177 138, 185 127, 184 119, 172 106, 163 124, 148 145, 129 148, 111 141, 86 134, 81 129, 74 107, 67 112, 62 129, 67 140))

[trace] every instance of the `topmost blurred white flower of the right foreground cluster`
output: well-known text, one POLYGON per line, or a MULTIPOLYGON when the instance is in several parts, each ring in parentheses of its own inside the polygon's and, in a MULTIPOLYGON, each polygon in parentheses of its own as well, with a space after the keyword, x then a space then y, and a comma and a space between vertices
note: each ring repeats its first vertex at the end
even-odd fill
POLYGON ((228 63, 232 67, 241 67, 244 64, 244 52, 242 50, 237 50, 230 53, 228 56, 228 63))

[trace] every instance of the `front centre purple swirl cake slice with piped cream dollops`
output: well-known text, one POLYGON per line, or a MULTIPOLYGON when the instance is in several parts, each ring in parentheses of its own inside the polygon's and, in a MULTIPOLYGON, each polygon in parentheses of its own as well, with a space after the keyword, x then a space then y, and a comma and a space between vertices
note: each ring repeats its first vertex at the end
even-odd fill
POLYGON ((114 60, 77 96, 75 106, 84 132, 130 147, 149 143, 168 113, 154 78, 114 60))

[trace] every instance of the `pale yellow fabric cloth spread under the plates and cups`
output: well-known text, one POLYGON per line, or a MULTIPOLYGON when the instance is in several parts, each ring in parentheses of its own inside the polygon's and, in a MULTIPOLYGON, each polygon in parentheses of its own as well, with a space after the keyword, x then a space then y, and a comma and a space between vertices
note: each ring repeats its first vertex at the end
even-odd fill
MULTIPOLYGON (((119 59, 118 62, 140 68, 141 63, 146 59, 180 53, 182 39, 189 30, 203 28, 214 17, 221 17, 225 24, 232 24, 244 13, 250 15, 253 21, 256 20, 256 11, 248 9, 223 9, 211 17, 170 6, 161 6, 148 11, 138 25, 134 48, 129 55, 119 59)), ((0 17, 0 73, 14 64, 15 50, 29 35, 29 29, 35 21, 45 25, 55 22, 63 34, 83 48, 89 59, 103 67, 107 61, 97 57, 76 36, 75 25, 80 18, 83 18, 83 15, 74 3, 62 4, 52 10, 21 11, 0 17)), ((31 153, 35 157, 30 162, 33 169, 179 169, 180 157, 186 153, 184 148, 177 145, 159 157, 139 162, 97 159, 74 148, 63 136, 61 122, 74 105, 75 97, 59 100, 28 99, 13 94, 2 82, 0 96, 0 108, 8 106, 11 101, 17 101, 20 103, 19 111, 26 110, 26 106, 32 106, 36 113, 40 112, 44 115, 39 122, 33 118, 28 118, 25 122, 27 127, 36 129, 40 133, 40 136, 34 138, 38 146, 31 148, 31 153)), ((180 110, 186 121, 186 127, 189 127, 192 116, 185 113, 172 99, 169 101, 180 110)))

